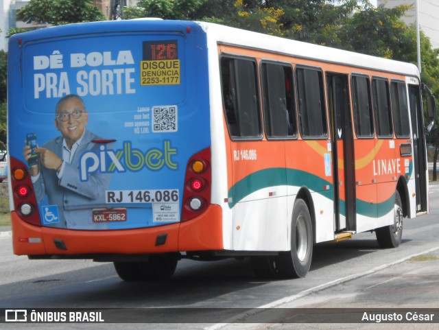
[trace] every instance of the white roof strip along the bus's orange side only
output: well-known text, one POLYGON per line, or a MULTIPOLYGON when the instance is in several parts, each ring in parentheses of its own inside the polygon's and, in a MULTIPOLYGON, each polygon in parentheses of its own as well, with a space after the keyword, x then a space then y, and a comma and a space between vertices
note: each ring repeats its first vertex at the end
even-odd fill
POLYGON ((199 24, 208 34, 213 34, 213 38, 219 43, 242 45, 244 47, 255 49, 266 49, 281 54, 296 56, 298 58, 309 58, 324 62, 347 64, 353 67, 375 69, 377 71, 388 71, 419 77, 418 68, 412 63, 388 60, 386 58, 313 45, 311 43, 303 43, 297 40, 239 30, 234 27, 227 27, 214 23, 200 22, 199 24))

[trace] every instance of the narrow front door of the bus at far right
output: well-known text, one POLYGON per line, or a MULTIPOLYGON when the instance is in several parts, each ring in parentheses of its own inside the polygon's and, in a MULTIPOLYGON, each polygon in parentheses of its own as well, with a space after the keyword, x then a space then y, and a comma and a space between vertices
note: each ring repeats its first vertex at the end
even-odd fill
POLYGON ((427 211, 427 160, 425 159, 423 108, 418 85, 409 85, 410 116, 412 119, 413 161, 416 185, 416 212, 427 211))

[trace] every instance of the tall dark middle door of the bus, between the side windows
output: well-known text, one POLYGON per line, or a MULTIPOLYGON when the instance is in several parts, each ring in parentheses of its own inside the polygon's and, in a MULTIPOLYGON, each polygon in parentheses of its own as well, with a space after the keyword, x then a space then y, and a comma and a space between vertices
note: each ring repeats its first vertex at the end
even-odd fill
POLYGON ((348 75, 327 73, 335 231, 355 231, 355 161, 348 75))

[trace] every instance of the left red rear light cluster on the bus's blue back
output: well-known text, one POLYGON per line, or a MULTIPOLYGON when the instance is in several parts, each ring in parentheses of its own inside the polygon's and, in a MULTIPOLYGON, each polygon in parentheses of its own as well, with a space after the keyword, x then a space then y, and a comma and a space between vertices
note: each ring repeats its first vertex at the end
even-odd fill
POLYGON ((12 168, 12 191, 14 192, 14 209, 21 219, 29 224, 41 225, 40 215, 36 208, 36 198, 32 191, 32 181, 25 164, 10 158, 12 168))

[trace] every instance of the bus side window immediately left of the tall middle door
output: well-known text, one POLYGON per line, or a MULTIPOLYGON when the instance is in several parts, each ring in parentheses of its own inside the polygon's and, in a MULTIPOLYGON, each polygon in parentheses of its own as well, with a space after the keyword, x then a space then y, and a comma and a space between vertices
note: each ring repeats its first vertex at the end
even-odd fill
POLYGON ((296 69, 296 79, 302 137, 327 137, 322 72, 300 67, 296 69))

